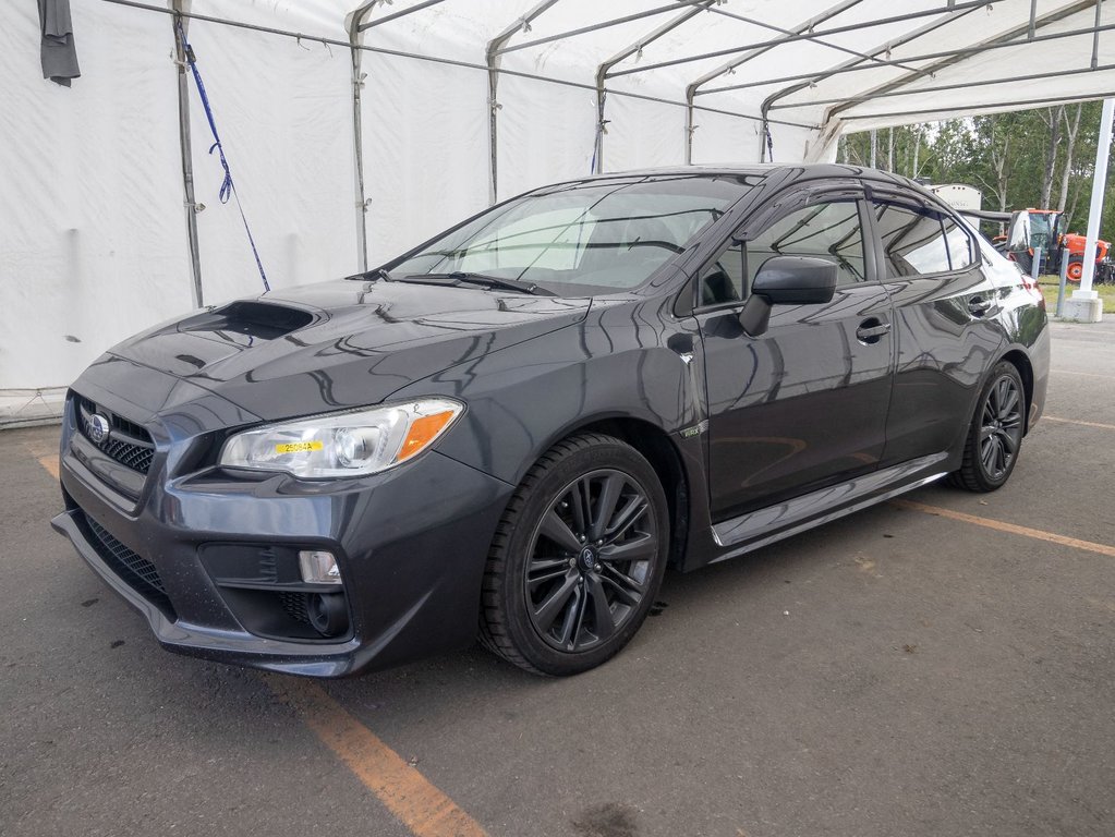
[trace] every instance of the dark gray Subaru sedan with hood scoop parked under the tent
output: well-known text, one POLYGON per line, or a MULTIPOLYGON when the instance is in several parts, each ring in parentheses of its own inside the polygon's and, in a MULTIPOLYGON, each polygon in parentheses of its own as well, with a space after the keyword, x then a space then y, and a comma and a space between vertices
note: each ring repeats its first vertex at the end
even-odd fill
POLYGON ((573 674, 667 565, 1002 486, 1048 376, 1027 282, 879 172, 562 183, 109 350, 54 524, 173 651, 338 677, 478 633, 573 674))

